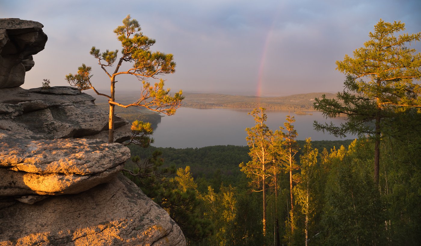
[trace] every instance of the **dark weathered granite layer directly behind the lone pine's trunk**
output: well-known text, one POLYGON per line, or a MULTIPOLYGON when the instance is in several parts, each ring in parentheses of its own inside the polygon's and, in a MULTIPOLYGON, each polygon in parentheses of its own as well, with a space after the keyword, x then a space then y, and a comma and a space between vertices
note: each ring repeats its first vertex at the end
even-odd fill
MULTIPOLYGON (((69 86, 0 90, 0 129, 43 139, 89 138, 108 141, 108 112, 95 98, 69 86)), ((130 124, 115 117, 115 142, 130 138, 130 124)))

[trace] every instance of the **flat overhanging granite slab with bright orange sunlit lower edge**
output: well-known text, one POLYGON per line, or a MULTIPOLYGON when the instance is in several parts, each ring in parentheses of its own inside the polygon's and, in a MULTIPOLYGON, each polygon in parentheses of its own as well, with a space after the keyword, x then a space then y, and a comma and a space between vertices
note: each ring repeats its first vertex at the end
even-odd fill
POLYGON ((109 182, 130 158, 123 145, 98 139, 39 141, 0 130, 0 142, 0 196, 80 193, 109 182))

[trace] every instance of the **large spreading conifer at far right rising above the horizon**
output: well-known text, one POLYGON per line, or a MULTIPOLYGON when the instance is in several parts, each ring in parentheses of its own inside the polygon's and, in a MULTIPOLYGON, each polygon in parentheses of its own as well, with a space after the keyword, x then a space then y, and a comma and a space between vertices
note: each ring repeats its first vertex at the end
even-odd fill
POLYGON ((316 130, 326 130, 335 136, 368 135, 373 140, 375 184, 385 123, 394 117, 394 112, 410 107, 421 112, 421 87, 413 83, 421 76, 421 53, 407 47, 420 40, 421 32, 398 35, 403 30, 405 24, 400 21, 389 23, 380 19, 374 32, 369 33, 370 40, 354 51, 354 57, 345 55, 343 61, 336 61, 336 69, 346 75, 344 91, 336 99, 323 95, 314 102, 314 108, 326 118, 338 115, 347 118, 341 126, 315 121, 316 130))

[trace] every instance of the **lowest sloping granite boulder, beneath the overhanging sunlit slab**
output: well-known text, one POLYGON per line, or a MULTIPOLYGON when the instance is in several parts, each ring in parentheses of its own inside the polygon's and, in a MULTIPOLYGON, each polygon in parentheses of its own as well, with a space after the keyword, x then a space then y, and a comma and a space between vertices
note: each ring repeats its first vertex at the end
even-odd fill
POLYGON ((122 174, 75 195, 0 209, 0 245, 185 246, 179 226, 122 174))

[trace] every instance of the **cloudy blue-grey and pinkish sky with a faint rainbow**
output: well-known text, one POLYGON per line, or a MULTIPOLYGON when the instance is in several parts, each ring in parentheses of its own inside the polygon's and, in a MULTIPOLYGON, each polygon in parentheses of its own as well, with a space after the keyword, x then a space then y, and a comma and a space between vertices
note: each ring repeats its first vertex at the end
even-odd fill
MULTIPOLYGON (((152 51, 172 53, 176 72, 162 76, 171 91, 283 96, 343 90, 335 62, 363 46, 383 19, 421 31, 420 0, 0 0, 0 18, 38 21, 48 35, 34 55, 23 88, 67 86, 65 75, 82 63, 92 83, 109 91, 109 79, 89 51, 121 48, 113 30, 128 14, 152 51)), ((413 45, 421 51, 420 43, 413 45)), ((140 88, 122 75, 118 91, 140 88)), ((153 80, 149 80, 153 83, 153 80)))

